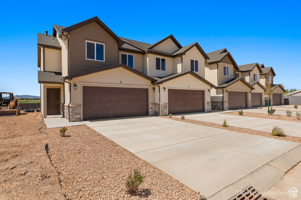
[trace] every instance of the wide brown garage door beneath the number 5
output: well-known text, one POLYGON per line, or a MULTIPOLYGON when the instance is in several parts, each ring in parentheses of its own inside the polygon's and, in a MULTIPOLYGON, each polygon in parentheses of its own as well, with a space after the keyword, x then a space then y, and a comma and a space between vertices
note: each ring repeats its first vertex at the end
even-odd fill
POLYGON ((83 120, 148 115, 148 89, 83 86, 83 120))

